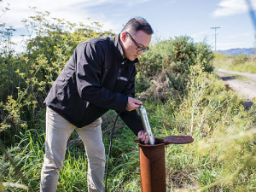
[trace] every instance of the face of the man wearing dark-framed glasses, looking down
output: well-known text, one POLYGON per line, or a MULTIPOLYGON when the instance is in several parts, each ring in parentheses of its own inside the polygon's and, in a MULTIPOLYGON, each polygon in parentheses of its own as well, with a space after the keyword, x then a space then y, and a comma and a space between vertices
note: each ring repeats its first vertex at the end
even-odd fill
POLYGON ((123 45, 124 56, 130 61, 134 61, 138 55, 143 55, 143 50, 139 50, 140 48, 137 46, 147 49, 151 41, 151 35, 148 35, 146 32, 141 30, 137 33, 127 32, 130 35, 126 32, 122 32, 120 37, 123 45), (132 41, 132 38, 135 42, 132 41))

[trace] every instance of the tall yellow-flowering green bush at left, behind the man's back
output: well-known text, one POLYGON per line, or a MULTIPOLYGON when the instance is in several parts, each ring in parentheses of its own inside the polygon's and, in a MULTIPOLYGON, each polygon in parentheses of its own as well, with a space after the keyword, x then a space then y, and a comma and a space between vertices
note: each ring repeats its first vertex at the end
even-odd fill
POLYGON ((77 25, 50 18, 49 12, 38 12, 23 22, 28 31, 33 29, 26 51, 17 55, 13 51, 3 52, 5 55, 0 56, 0 137, 6 145, 19 142, 14 135, 20 131, 37 129, 38 111, 45 108, 44 99, 75 46, 88 38, 113 36, 112 32, 102 31, 97 22, 91 26, 77 25))

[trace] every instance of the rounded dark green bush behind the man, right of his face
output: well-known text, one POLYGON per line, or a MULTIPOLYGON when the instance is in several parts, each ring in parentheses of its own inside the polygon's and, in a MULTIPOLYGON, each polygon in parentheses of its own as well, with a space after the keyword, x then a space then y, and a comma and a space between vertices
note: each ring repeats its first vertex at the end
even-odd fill
MULTIPOLYGON (((142 84, 141 82, 147 82, 148 84, 148 81, 162 79, 154 76, 166 71, 166 78, 169 79, 169 88, 174 91, 177 90, 183 95, 185 84, 189 80, 189 67, 200 65, 204 72, 212 73, 213 58, 214 55, 209 45, 194 43, 193 39, 187 36, 161 41, 158 44, 154 44, 142 56, 142 60, 137 65, 137 71, 140 75, 140 79, 137 79, 137 84, 142 84)), ((165 82, 165 80, 162 82, 165 82)), ((148 88, 148 86, 144 88, 148 88)), ((154 92, 154 88, 150 87, 149 89, 151 93, 154 92)), ((148 96, 152 96, 152 94, 148 96)), ((153 97, 158 98, 158 96, 153 97)))

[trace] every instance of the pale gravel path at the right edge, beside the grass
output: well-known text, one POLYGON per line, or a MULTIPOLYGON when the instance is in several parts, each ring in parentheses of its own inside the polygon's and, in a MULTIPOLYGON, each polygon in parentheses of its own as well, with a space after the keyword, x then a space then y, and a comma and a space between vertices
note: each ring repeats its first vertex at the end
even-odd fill
POLYGON ((247 102, 256 97, 256 74, 232 72, 222 68, 215 68, 214 72, 224 80, 224 84, 227 84, 231 90, 237 91, 247 102), (232 74, 243 76, 247 80, 238 80, 232 74))

